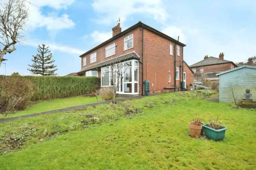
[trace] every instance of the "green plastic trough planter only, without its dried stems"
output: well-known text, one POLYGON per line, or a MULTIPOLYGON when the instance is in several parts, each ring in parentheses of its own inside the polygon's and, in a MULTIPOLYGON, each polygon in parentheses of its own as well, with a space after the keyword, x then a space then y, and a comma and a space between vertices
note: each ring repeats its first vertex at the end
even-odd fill
POLYGON ((213 140, 221 140, 225 137, 225 132, 228 128, 221 126, 220 129, 216 130, 209 126, 209 124, 203 125, 204 134, 213 140))

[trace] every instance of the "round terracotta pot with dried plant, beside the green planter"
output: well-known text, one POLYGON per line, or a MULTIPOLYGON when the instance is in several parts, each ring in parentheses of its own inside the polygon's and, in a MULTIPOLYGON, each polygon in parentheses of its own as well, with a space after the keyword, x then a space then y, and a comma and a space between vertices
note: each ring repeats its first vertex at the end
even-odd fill
POLYGON ((190 136, 192 138, 199 138, 202 131, 202 122, 198 117, 194 117, 192 122, 189 122, 190 136))

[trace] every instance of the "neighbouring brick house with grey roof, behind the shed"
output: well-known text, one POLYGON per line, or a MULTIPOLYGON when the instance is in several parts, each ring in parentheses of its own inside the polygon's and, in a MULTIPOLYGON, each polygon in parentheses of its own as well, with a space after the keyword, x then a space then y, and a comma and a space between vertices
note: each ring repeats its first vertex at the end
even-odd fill
MULTIPOLYGON (((236 67, 237 65, 232 61, 224 60, 223 52, 219 53, 219 58, 212 56, 208 57, 208 55, 205 55, 203 60, 190 65, 190 68, 194 73, 205 73, 205 76, 209 81, 218 81, 219 78, 216 76, 217 73, 236 67)), ((194 83, 198 83, 196 79, 194 79, 194 83)))

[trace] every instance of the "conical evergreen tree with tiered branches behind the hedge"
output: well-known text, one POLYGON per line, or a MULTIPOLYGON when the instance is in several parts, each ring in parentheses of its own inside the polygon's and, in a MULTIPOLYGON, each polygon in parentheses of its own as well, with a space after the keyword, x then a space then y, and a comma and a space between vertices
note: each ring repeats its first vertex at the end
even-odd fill
POLYGON ((48 49, 49 47, 45 47, 42 44, 42 47, 38 45, 37 51, 39 54, 32 55, 33 59, 31 60, 34 62, 32 65, 28 65, 31 68, 28 68, 32 74, 41 74, 41 75, 56 75, 55 71, 58 70, 53 63, 55 60, 52 59, 53 54, 48 49))

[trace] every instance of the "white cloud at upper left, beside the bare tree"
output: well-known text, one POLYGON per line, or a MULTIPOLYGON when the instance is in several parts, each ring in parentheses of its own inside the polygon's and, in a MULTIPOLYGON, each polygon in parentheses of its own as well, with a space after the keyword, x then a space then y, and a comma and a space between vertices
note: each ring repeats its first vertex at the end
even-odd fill
POLYGON ((30 29, 38 27, 46 27, 47 30, 60 30, 65 28, 73 28, 75 23, 69 19, 67 14, 57 16, 56 13, 43 14, 42 7, 49 6, 55 10, 66 9, 74 0, 32 0, 29 5, 29 20, 27 27, 30 29))

